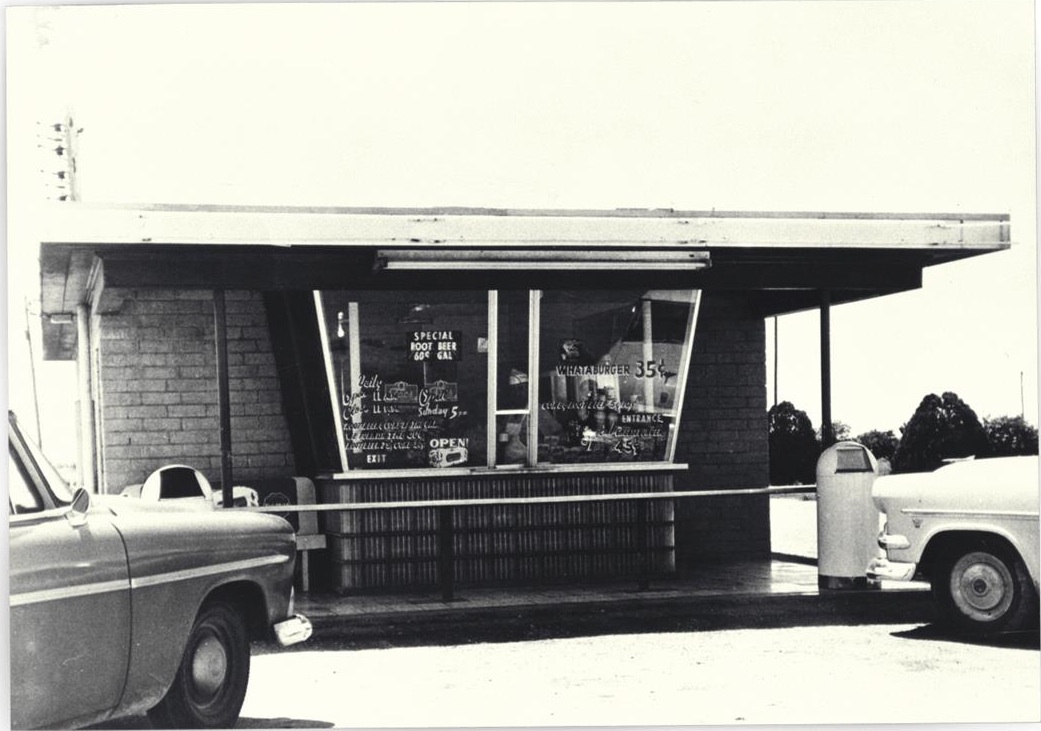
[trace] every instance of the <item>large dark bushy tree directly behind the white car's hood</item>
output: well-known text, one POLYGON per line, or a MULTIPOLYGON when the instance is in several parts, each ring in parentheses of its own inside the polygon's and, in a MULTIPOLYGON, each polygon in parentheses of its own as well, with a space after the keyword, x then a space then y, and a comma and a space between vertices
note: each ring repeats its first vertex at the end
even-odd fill
POLYGON ((957 457, 986 457, 987 432, 975 411, 946 392, 921 400, 911 420, 900 429, 893 455, 893 472, 929 472, 957 457))

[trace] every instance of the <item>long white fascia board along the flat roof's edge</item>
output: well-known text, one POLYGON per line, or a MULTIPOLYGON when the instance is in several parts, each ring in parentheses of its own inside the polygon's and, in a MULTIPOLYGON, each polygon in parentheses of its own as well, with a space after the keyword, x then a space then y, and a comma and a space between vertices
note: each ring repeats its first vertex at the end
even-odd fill
POLYGON ((1009 246, 1005 215, 618 211, 353 211, 116 207, 56 203, 41 242, 382 247, 777 247, 968 249, 1009 246))

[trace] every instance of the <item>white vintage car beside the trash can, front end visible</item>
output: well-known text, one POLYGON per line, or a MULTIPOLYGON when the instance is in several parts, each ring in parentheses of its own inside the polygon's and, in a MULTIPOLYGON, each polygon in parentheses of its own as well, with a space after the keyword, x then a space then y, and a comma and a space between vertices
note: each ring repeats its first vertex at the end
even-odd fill
POLYGON ((885 558, 873 579, 928 579, 939 619, 972 634, 1038 622, 1038 458, 955 461, 931 473, 880 477, 885 558))

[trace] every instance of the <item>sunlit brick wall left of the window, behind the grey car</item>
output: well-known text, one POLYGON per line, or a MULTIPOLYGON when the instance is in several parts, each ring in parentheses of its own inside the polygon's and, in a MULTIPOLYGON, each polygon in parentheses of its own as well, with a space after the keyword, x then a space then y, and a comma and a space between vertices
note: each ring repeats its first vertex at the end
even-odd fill
MULTIPOLYGON (((213 304, 209 291, 108 289, 98 319, 103 489, 119 493, 163 464, 221 476, 213 304)), ((259 295, 228 292, 232 475, 293 474, 293 453, 259 295)))

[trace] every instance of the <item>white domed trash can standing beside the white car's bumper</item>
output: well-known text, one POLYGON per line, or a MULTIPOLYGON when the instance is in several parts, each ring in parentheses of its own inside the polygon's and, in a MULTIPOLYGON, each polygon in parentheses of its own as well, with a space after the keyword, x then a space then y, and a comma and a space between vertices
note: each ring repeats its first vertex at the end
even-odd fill
POLYGON ((867 564, 879 555, 879 510, 871 485, 879 465, 871 451, 839 442, 817 459, 817 586, 878 588, 867 564))

